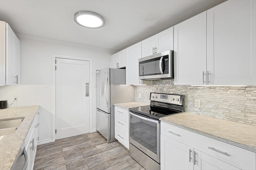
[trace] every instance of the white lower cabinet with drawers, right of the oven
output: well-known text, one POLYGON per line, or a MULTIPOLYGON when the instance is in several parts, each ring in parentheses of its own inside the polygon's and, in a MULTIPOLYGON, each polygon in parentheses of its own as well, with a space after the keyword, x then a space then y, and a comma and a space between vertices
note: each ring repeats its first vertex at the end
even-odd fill
POLYGON ((256 153, 161 122, 161 170, 256 170, 256 153))

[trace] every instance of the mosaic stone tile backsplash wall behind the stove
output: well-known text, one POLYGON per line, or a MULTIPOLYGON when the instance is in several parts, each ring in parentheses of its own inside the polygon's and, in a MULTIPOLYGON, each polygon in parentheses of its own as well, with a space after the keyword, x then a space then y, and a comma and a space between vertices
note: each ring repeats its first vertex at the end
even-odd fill
POLYGON ((185 111, 256 126, 256 86, 176 86, 174 80, 154 80, 136 86, 136 101, 149 103, 150 92, 182 94, 185 111), (200 108, 194 107, 195 99, 201 100, 200 108))

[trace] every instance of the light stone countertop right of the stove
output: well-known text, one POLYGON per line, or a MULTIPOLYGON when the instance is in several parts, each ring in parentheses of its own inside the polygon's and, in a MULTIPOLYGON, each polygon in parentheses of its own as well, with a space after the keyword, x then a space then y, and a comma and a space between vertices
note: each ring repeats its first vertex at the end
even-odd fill
POLYGON ((183 112, 160 121, 256 152, 256 126, 183 112))

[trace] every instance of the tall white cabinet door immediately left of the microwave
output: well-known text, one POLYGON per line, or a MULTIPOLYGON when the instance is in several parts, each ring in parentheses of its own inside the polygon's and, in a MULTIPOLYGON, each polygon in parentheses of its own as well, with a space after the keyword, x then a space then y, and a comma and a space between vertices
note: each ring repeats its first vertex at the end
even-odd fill
POLYGON ((126 84, 140 84, 139 59, 141 58, 141 42, 126 49, 126 84))

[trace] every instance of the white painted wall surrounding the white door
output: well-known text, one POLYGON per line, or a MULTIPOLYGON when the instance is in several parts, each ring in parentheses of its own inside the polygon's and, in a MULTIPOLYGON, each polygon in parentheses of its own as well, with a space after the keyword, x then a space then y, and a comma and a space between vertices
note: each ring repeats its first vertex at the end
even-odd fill
POLYGON ((40 105, 44 113, 40 115, 40 141, 52 139, 53 83, 52 55, 64 55, 92 59, 92 123, 96 130, 96 70, 110 67, 112 51, 92 49, 79 45, 20 36, 20 82, 21 85, 0 86, 0 100, 12 102, 18 95, 19 101, 10 107, 40 105), (50 87, 44 88, 43 84, 50 87))

